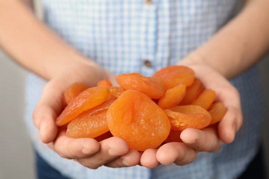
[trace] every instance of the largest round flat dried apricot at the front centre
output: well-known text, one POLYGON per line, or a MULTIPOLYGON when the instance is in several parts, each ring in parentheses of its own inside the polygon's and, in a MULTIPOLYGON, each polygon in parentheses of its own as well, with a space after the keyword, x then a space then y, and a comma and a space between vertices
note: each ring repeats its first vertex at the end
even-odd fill
POLYGON ((122 137, 137 151, 158 147, 170 131, 164 111, 147 95, 132 89, 110 105, 107 120, 113 136, 122 137))

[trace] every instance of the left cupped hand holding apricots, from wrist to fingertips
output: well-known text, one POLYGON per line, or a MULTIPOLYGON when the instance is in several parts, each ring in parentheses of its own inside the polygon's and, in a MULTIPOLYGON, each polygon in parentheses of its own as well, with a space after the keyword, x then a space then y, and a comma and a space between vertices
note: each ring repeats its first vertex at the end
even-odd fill
POLYGON ((111 137, 101 142, 92 138, 73 139, 66 136, 66 126, 58 127, 55 124, 55 119, 66 106, 63 93, 71 84, 83 82, 93 87, 103 79, 109 79, 116 84, 115 75, 96 64, 74 63, 61 69, 44 87, 33 112, 33 122, 40 131, 42 142, 47 143, 63 158, 74 159, 91 169, 103 165, 137 165, 140 154, 129 149, 123 139, 111 137))

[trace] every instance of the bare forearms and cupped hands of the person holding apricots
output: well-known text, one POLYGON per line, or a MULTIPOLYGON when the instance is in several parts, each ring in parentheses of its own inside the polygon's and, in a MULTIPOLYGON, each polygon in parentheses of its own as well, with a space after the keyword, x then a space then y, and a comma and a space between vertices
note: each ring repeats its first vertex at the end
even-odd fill
POLYGON ((0 0, 0 47, 21 66, 48 80, 33 112, 33 122, 42 142, 61 157, 74 159, 91 169, 103 165, 115 168, 137 164, 146 168, 170 163, 186 165, 195 160, 198 152, 217 152, 223 143, 234 141, 243 119, 240 94, 227 79, 247 70, 269 49, 268 8, 268 0, 247 0, 237 17, 178 62, 192 68, 206 88, 216 91, 216 100, 227 107, 223 120, 203 130, 184 130, 180 136, 182 143, 167 143, 144 152, 130 150, 118 137, 101 142, 71 139, 65 135, 64 127, 55 125, 54 120, 64 108, 63 93, 68 86, 74 82, 95 86, 106 78, 116 85, 115 75, 86 59, 18 0, 0 0))

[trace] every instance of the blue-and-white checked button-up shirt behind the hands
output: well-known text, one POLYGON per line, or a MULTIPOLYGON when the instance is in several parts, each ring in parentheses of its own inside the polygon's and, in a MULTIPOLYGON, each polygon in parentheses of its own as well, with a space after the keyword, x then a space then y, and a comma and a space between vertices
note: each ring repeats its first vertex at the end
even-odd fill
MULTIPOLYGON (((43 0, 45 22, 89 59, 115 74, 146 76, 175 64, 206 42, 234 15, 235 5, 236 0, 153 0, 152 4, 143 0, 43 0)), ((39 154, 74 179, 234 179, 260 143, 263 116, 257 79, 257 69, 252 68, 232 80, 241 92, 244 113, 236 140, 218 153, 199 153, 194 163, 181 167, 90 170, 60 158, 40 142, 32 124, 32 111, 46 83, 33 74, 26 80, 25 121, 39 154)))

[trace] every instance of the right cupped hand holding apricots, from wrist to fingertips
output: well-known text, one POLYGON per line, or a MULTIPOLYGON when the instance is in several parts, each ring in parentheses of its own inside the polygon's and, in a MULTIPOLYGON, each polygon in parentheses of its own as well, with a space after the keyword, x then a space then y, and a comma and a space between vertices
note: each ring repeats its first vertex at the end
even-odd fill
POLYGON ((180 135, 182 142, 170 142, 158 149, 144 151, 140 163, 147 168, 170 163, 186 165, 195 160, 197 152, 217 152, 223 143, 234 141, 243 122, 240 94, 225 77, 205 64, 183 60, 178 65, 189 66, 205 88, 215 90, 215 101, 222 102, 227 112, 217 124, 202 130, 185 129, 180 135))

